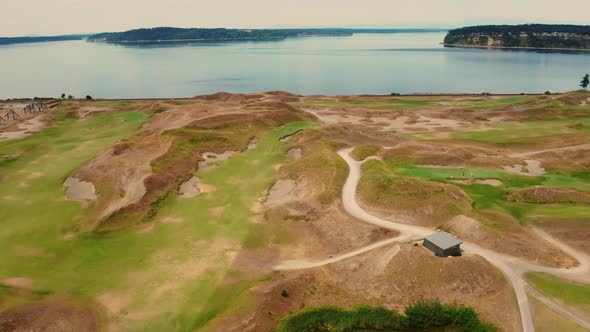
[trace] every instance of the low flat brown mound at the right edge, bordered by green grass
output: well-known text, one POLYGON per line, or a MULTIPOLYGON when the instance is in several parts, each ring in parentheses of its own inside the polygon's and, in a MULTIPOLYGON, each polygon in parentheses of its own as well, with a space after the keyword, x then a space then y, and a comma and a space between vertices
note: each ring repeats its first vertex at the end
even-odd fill
POLYGON ((590 194, 573 188, 533 186, 510 192, 511 202, 590 203, 590 194))

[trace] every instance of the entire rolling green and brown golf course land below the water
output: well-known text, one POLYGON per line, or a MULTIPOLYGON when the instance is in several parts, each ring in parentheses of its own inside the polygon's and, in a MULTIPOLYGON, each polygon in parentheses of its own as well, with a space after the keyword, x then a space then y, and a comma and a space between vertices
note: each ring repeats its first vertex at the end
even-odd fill
POLYGON ((0 331, 268 331, 433 299, 590 329, 590 93, 47 105, 0 125, 0 331), (463 255, 424 248, 437 230, 463 255))

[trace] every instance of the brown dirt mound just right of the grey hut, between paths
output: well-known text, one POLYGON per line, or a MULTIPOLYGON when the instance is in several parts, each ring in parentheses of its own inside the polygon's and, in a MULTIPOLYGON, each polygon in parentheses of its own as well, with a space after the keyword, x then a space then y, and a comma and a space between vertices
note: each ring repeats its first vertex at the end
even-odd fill
MULTIPOLYGON (((496 220, 500 220, 499 216, 496 220)), ((445 226, 462 240, 538 264, 571 267, 578 263, 571 256, 539 239, 518 224, 504 222, 500 232, 482 225, 475 219, 460 215, 450 220, 445 226)))

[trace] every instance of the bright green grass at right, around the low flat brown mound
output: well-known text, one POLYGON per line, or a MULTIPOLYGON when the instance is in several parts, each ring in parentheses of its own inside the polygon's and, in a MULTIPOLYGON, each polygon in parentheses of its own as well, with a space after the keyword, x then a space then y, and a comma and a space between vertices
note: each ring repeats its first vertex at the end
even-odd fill
POLYGON ((549 173, 538 177, 513 175, 485 168, 429 168, 389 163, 396 173, 422 178, 429 181, 450 183, 463 189, 473 200, 476 210, 496 210, 513 216, 520 223, 526 223, 532 216, 550 216, 560 219, 588 217, 587 205, 576 204, 533 204, 510 202, 506 199, 509 190, 539 186, 563 186, 583 191, 590 190, 590 173, 549 173), (485 184, 459 184, 453 180, 497 179, 501 186, 485 184))

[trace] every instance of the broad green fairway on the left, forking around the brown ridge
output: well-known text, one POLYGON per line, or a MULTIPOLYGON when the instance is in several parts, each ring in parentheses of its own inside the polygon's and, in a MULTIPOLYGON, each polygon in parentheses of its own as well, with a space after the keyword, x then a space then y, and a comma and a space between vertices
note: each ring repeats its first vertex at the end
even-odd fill
POLYGON ((125 330, 137 331, 194 330, 247 304, 246 290, 258 281, 229 271, 232 258, 242 246, 287 239, 280 228, 253 222, 251 208, 274 181, 273 165, 286 160, 279 139, 312 123, 271 130, 256 149, 199 172, 215 190, 187 200, 170 195, 152 227, 70 236, 70 227, 91 208, 67 201, 63 181, 132 135, 147 116, 102 113, 81 121, 65 113, 58 113, 53 128, 0 144, 0 155, 20 154, 0 159, 0 284, 29 278, 36 294, 16 298, 0 287, 0 304, 66 293, 100 300, 125 330), (228 275, 236 281, 218 286, 228 275))

